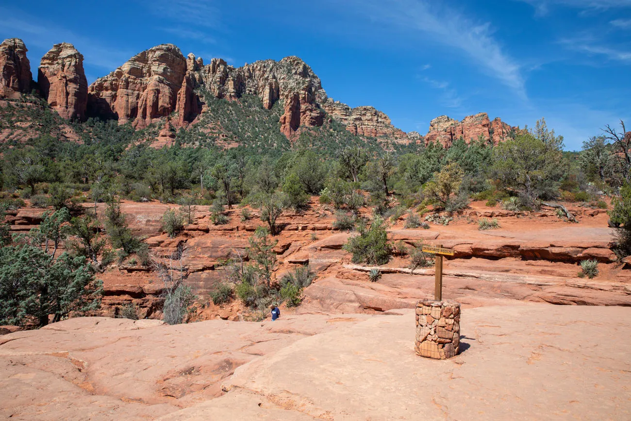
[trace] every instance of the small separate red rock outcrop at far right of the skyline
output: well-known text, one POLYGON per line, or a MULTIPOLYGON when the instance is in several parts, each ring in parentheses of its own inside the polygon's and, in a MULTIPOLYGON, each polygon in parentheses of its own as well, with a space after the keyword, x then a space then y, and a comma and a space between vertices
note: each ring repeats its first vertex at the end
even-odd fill
POLYGON ((511 127, 497 117, 491 122, 486 112, 480 112, 474 116, 464 117, 463 121, 457 121, 447 116, 436 117, 430 122, 430 129, 425 136, 425 142, 437 142, 449 147, 457 139, 463 138, 466 143, 477 139, 491 139, 494 145, 504 141, 511 127))

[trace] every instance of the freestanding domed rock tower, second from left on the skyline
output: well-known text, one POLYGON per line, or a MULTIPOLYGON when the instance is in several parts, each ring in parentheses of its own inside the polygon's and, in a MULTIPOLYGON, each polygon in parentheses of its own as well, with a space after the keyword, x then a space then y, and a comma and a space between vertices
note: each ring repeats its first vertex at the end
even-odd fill
POLYGON ((88 81, 83 71, 83 56, 72 44, 55 44, 40 63, 37 83, 52 109, 64 119, 85 117, 88 81))

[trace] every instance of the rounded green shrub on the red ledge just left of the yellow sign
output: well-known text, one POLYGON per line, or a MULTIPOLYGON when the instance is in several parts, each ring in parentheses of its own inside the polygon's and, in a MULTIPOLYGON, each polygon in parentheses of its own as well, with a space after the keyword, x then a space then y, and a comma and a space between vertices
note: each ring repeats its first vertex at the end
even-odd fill
POLYGON ((386 264, 390 260, 392 246, 387 242, 384 220, 374 218, 370 227, 362 222, 358 231, 360 235, 348 240, 344 246, 353 254, 353 263, 386 264))

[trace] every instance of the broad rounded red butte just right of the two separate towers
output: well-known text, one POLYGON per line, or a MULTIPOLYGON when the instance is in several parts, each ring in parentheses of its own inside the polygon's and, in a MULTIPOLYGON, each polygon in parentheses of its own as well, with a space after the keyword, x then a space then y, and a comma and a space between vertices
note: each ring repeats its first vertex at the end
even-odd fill
POLYGON ((146 127, 153 119, 175 110, 186 66, 175 45, 162 44, 143 51, 90 85, 88 112, 146 127))

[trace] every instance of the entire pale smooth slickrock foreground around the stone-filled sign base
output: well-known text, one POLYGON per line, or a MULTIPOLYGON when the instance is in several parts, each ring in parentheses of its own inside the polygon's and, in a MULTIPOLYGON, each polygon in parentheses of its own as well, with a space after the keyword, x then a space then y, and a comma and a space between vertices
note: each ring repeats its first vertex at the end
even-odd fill
POLYGON ((413 310, 179 326, 70 319, 0 336, 0 416, 628 419, 630 312, 463 309, 461 353, 449 360, 415 354, 413 310))

